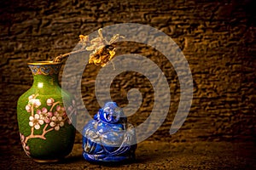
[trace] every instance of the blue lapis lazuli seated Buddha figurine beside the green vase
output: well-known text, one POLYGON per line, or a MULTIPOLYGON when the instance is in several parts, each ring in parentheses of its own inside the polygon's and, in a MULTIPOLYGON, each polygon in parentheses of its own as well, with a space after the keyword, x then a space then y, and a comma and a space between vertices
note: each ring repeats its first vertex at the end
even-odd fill
POLYGON ((83 130, 83 156, 87 161, 129 161, 135 159, 135 128, 122 109, 108 102, 83 130))

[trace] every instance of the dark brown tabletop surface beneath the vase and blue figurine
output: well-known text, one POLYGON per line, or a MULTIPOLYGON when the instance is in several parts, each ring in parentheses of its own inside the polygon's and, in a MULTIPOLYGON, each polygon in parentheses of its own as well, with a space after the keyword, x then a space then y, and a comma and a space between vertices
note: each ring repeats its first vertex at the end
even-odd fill
POLYGON ((50 164, 32 161, 20 145, 0 148, 0 169, 256 169, 253 143, 144 141, 138 144, 136 161, 107 165, 85 161, 81 144, 74 144, 65 160, 50 164))

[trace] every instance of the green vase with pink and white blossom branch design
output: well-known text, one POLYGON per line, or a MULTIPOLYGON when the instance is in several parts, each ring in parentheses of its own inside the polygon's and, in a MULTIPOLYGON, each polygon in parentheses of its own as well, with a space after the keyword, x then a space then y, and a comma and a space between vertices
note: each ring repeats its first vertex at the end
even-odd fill
POLYGON ((22 147, 34 161, 60 161, 73 149, 75 101, 59 84, 61 63, 42 61, 28 66, 32 88, 20 96, 17 105, 22 147))

